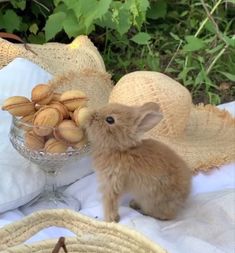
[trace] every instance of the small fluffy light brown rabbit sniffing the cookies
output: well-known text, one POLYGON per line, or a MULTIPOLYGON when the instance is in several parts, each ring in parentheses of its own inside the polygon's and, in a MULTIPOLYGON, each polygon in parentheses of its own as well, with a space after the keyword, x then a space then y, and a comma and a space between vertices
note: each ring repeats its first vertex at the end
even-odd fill
POLYGON ((165 144, 143 139, 162 113, 156 103, 140 107, 109 104, 87 117, 84 127, 92 143, 95 169, 103 194, 106 221, 119 221, 118 200, 161 220, 173 219, 191 188, 186 163, 165 144))

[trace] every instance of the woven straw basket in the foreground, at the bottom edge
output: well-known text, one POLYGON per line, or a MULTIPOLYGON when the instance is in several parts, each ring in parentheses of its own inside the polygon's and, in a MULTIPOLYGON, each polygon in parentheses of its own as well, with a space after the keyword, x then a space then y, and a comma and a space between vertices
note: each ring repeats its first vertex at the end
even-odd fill
POLYGON ((96 221, 65 209, 36 212, 0 229, 0 252, 51 253, 58 239, 24 244, 37 232, 51 226, 67 228, 75 234, 75 237, 65 239, 68 253, 167 253, 124 226, 96 221))

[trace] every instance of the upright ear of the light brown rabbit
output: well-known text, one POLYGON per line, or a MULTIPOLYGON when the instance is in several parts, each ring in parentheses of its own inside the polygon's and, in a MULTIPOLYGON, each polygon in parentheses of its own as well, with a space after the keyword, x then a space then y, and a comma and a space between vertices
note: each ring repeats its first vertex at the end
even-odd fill
POLYGON ((154 102, 145 103, 137 109, 138 132, 147 132, 161 121, 163 115, 159 109, 159 105, 154 102))

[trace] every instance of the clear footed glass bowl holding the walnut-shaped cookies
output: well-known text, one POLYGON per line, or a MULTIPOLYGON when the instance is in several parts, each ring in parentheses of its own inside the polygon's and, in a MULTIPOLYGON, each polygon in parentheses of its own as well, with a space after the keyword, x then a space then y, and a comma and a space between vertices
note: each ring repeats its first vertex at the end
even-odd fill
POLYGON ((81 208, 77 199, 58 190, 55 176, 69 163, 87 155, 90 147, 84 138, 77 143, 69 143, 63 139, 71 134, 76 139, 76 131, 81 132, 78 127, 77 129, 76 127, 60 128, 61 131, 65 133, 64 136, 58 134, 57 128, 36 127, 22 122, 15 116, 12 117, 9 138, 13 147, 31 163, 37 164, 46 174, 44 192, 21 208, 24 213, 52 208, 69 208, 78 211, 81 208), (40 130, 42 131, 40 132, 40 130), (49 134, 38 135, 43 132, 49 134))

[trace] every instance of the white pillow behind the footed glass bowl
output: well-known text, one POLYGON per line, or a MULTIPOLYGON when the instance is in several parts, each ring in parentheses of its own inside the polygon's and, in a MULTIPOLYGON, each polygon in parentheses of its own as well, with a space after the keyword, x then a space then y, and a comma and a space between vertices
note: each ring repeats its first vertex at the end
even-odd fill
MULTIPOLYGON (((52 76, 38 65, 17 58, 0 70, 0 105, 14 95, 30 98, 32 87, 52 76)), ((11 115, 0 110, 0 213, 17 208, 42 192, 45 174, 17 153, 9 141, 11 115), (40 178, 40 180, 38 180, 40 178)), ((92 172, 89 156, 64 168, 56 177, 58 186, 68 185, 92 172)))

